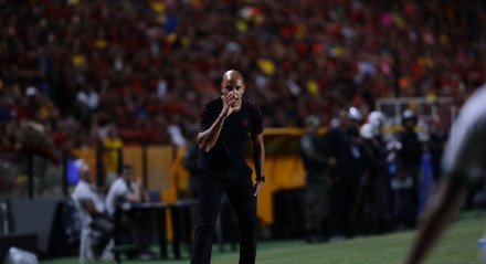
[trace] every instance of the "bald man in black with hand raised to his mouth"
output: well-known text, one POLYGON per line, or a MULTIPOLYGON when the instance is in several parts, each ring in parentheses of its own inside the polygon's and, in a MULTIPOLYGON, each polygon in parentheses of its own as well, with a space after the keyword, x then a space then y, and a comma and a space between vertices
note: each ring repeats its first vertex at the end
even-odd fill
POLYGON ((201 112, 198 145, 201 148, 198 176, 198 214, 191 263, 210 263, 215 222, 223 191, 226 192, 242 233, 240 263, 255 263, 256 197, 264 181, 263 116, 260 107, 244 99, 243 76, 228 71, 221 83, 222 96, 207 103, 201 112), (256 186, 245 162, 251 135, 256 186))

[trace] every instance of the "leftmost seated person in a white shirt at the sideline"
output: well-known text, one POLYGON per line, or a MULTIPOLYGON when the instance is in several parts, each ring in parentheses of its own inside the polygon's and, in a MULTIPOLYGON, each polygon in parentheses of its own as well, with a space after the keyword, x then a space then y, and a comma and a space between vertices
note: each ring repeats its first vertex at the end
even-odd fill
MULTIPOLYGON (((80 181, 76 183, 71 197, 81 212, 83 229, 94 231, 89 232, 89 249, 81 247, 80 251, 91 251, 88 257, 97 258, 113 235, 114 224, 106 214, 102 197, 91 183, 92 172, 89 166, 80 160, 78 168, 80 181)), ((82 246, 86 246, 86 244, 82 246)), ((83 254, 83 252, 81 253, 83 254)))

